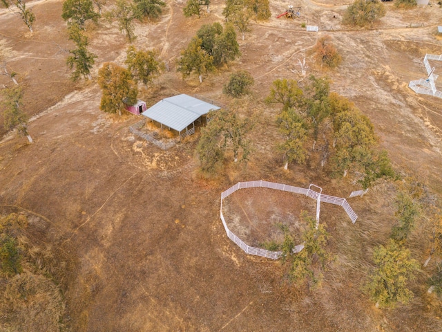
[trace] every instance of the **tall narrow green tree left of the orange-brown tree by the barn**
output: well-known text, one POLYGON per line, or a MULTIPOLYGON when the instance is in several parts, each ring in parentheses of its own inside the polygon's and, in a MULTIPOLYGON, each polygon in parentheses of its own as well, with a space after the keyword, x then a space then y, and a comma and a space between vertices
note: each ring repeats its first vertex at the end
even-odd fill
POLYGON ((72 39, 77 48, 69 50, 70 56, 66 59, 66 64, 70 70, 75 68, 71 79, 77 81, 81 75, 90 80, 90 69, 95 64, 97 55, 88 51, 88 37, 81 33, 81 30, 77 24, 69 27, 69 39, 72 39))

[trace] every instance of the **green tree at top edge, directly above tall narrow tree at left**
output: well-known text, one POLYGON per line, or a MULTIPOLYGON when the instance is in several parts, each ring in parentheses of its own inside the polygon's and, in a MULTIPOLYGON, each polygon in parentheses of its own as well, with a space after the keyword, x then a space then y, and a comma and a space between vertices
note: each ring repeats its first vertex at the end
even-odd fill
POLYGON ((65 0, 61 18, 68 26, 76 25, 83 29, 86 21, 97 23, 99 14, 95 12, 92 0, 65 0))

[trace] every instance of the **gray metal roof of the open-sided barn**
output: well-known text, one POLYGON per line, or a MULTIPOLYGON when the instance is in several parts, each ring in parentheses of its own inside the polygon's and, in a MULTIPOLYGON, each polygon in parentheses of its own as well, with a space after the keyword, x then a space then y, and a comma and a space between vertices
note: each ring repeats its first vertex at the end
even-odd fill
POLYGON ((164 98, 144 111, 142 115, 176 131, 182 131, 200 116, 217 109, 220 107, 182 94, 164 98))

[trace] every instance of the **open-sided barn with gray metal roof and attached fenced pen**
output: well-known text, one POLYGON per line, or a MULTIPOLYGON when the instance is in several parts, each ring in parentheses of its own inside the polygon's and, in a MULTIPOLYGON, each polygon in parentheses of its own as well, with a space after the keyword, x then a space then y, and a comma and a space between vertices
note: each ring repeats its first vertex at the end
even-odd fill
POLYGON ((162 149, 169 149, 176 142, 195 133, 195 122, 206 124, 207 113, 218 109, 221 107, 211 100, 204 101, 201 97, 185 94, 174 95, 142 112, 144 120, 133 124, 129 130, 162 149), (164 138, 164 131, 169 133, 167 139, 164 138))

